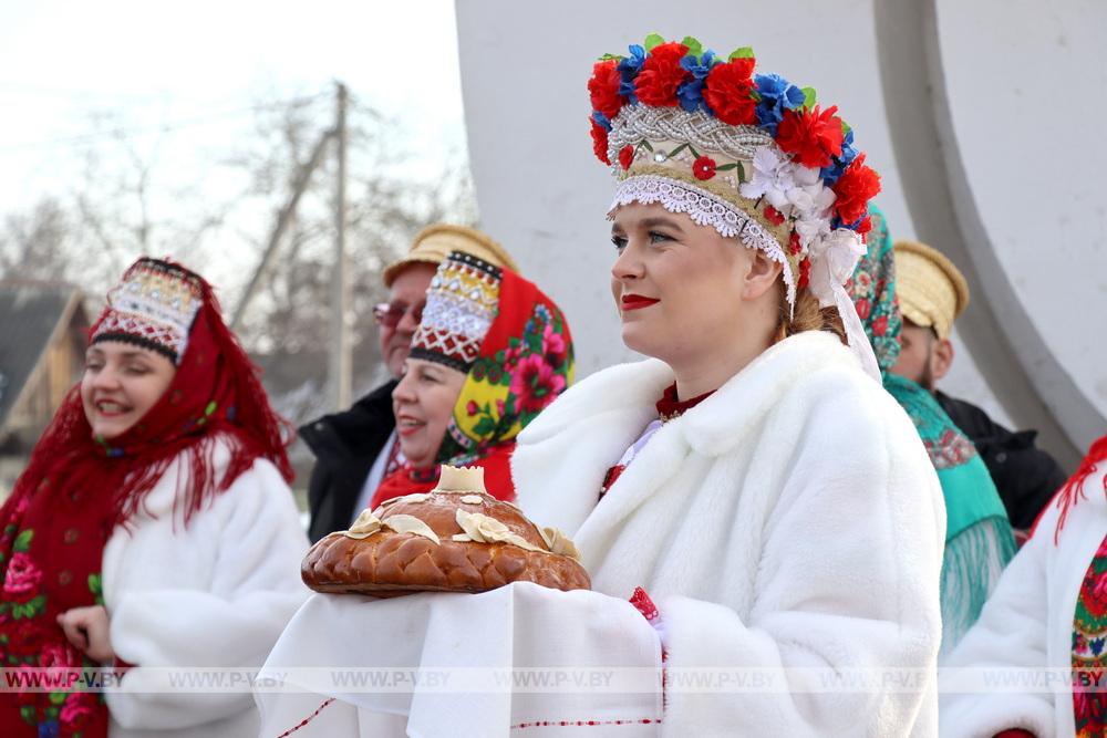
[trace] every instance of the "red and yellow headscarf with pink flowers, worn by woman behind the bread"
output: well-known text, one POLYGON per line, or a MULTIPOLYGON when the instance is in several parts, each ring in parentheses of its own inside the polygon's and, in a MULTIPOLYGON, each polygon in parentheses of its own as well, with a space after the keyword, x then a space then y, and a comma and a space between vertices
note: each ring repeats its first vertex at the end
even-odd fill
POLYGON ((437 464, 405 465, 381 482, 370 507, 433 489, 438 464, 483 467, 489 493, 515 499, 509 465, 515 437, 572 383, 572 373, 565 315, 537 285, 504 269, 496 318, 468 367, 437 464))

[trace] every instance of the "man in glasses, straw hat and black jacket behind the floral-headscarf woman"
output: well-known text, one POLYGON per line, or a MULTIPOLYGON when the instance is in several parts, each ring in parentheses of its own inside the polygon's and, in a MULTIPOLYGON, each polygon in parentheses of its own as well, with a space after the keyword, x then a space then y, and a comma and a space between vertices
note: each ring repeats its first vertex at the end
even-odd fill
POLYGON ((369 505, 381 480, 401 462, 392 389, 403 372, 412 336, 423 315, 426 290, 438 264, 451 251, 465 251, 497 267, 518 271, 504 248, 485 233, 464 226, 436 224, 424 228, 407 256, 383 273, 389 301, 373 308, 381 358, 392 378, 342 413, 324 415, 300 428, 315 455, 308 485, 312 542, 350 527, 369 505))

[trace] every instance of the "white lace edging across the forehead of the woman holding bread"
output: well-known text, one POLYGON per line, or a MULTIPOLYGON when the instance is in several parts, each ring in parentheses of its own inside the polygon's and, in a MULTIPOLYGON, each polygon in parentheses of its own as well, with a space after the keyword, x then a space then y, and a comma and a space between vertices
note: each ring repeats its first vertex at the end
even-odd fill
POLYGON ((788 305, 795 305, 796 282, 784 249, 764 226, 737 206, 695 185, 658 175, 637 175, 619 183, 611 207, 608 208, 608 219, 613 218, 615 208, 631 202, 642 205, 658 202, 670 212, 687 215, 700 226, 711 226, 723 238, 738 237, 746 247, 764 251, 773 261, 784 267, 783 277, 788 290, 788 305))

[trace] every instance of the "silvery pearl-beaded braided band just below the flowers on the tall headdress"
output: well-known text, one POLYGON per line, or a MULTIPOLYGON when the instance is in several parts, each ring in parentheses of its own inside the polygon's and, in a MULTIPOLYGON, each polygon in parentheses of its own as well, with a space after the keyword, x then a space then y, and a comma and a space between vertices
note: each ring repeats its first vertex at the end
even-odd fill
POLYGON ((756 126, 733 126, 702 111, 624 105, 611 121, 608 157, 618 162, 620 148, 643 139, 687 142, 702 150, 735 159, 752 159, 759 147, 773 143, 773 136, 756 126))

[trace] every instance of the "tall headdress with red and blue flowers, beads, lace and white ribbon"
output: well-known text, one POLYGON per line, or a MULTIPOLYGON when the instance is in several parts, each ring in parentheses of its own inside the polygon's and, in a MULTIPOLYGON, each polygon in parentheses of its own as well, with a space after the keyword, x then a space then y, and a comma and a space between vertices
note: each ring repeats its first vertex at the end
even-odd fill
POLYGON ((660 202, 761 249, 782 264, 788 304, 808 288, 836 305, 866 371, 879 376, 842 284, 866 252, 880 178, 837 107, 754 65, 751 49, 723 60, 691 37, 656 34, 596 63, 592 143, 619 180, 611 211, 660 202))

